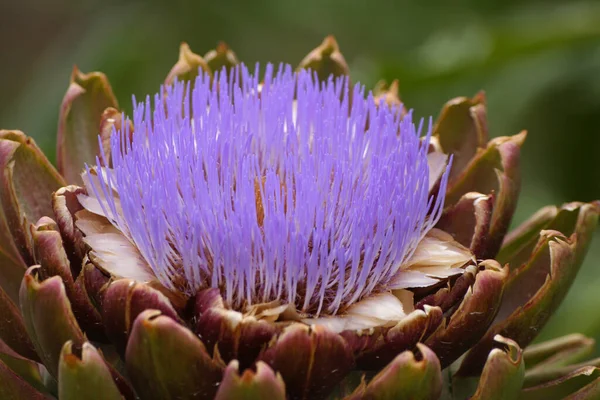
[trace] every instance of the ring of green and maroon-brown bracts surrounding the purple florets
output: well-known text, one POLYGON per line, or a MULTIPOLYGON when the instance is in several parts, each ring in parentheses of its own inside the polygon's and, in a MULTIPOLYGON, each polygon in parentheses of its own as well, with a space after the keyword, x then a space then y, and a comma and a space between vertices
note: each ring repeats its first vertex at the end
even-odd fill
MULTIPOLYGON (((204 57, 183 44, 165 83, 237 64, 225 44, 204 57)), ((349 74, 333 37, 298 68, 322 80, 349 74)), ((397 82, 374 95, 377 107, 407 112, 397 82)), ((113 131, 139 127, 122 119, 102 73, 78 70, 58 127, 58 169, 22 132, 0 131, 0 399, 600 396, 600 360, 585 361, 593 340, 530 346, 575 279, 600 202, 545 207, 507 234, 526 133, 490 140, 483 93, 446 103, 430 143, 431 154, 453 156, 435 230, 476 261, 394 292, 406 316, 361 330, 284 318, 280 304, 232 309, 218 288, 190 297, 109 272, 76 224, 89 195, 81 171, 113 131)))

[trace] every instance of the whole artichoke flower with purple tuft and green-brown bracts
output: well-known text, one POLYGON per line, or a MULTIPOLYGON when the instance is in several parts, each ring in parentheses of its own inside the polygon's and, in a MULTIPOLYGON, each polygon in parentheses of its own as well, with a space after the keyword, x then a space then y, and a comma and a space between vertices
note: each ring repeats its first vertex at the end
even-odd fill
POLYGON ((75 69, 57 169, 0 131, 0 398, 597 398, 593 340, 530 343, 600 202, 507 234, 525 136, 483 93, 415 121, 333 37, 295 70, 183 44, 131 119, 75 69))

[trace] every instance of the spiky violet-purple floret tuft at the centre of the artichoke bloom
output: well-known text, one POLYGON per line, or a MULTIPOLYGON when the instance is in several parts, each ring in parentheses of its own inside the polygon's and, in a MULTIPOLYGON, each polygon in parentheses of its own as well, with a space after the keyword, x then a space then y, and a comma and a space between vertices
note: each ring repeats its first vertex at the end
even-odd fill
POLYGON ((112 136, 112 169, 98 160, 104 214, 165 286, 218 287, 236 308, 335 314, 393 289, 443 205, 422 123, 345 79, 257 76, 200 74, 139 104, 135 133, 112 136))

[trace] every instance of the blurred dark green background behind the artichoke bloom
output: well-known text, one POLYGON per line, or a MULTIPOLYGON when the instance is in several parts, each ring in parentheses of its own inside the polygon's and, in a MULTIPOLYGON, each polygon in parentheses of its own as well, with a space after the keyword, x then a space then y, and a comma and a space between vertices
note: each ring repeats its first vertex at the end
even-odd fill
MULTIPOLYGON (((334 34, 354 80, 400 80, 417 115, 487 93, 493 136, 529 131, 515 222, 538 208, 600 198, 600 1, 0 2, 0 125, 54 159, 57 113, 74 64, 108 75, 125 110, 156 92, 187 41, 226 41, 246 63, 297 64, 334 34)), ((546 338, 600 339, 600 234, 546 338)))

